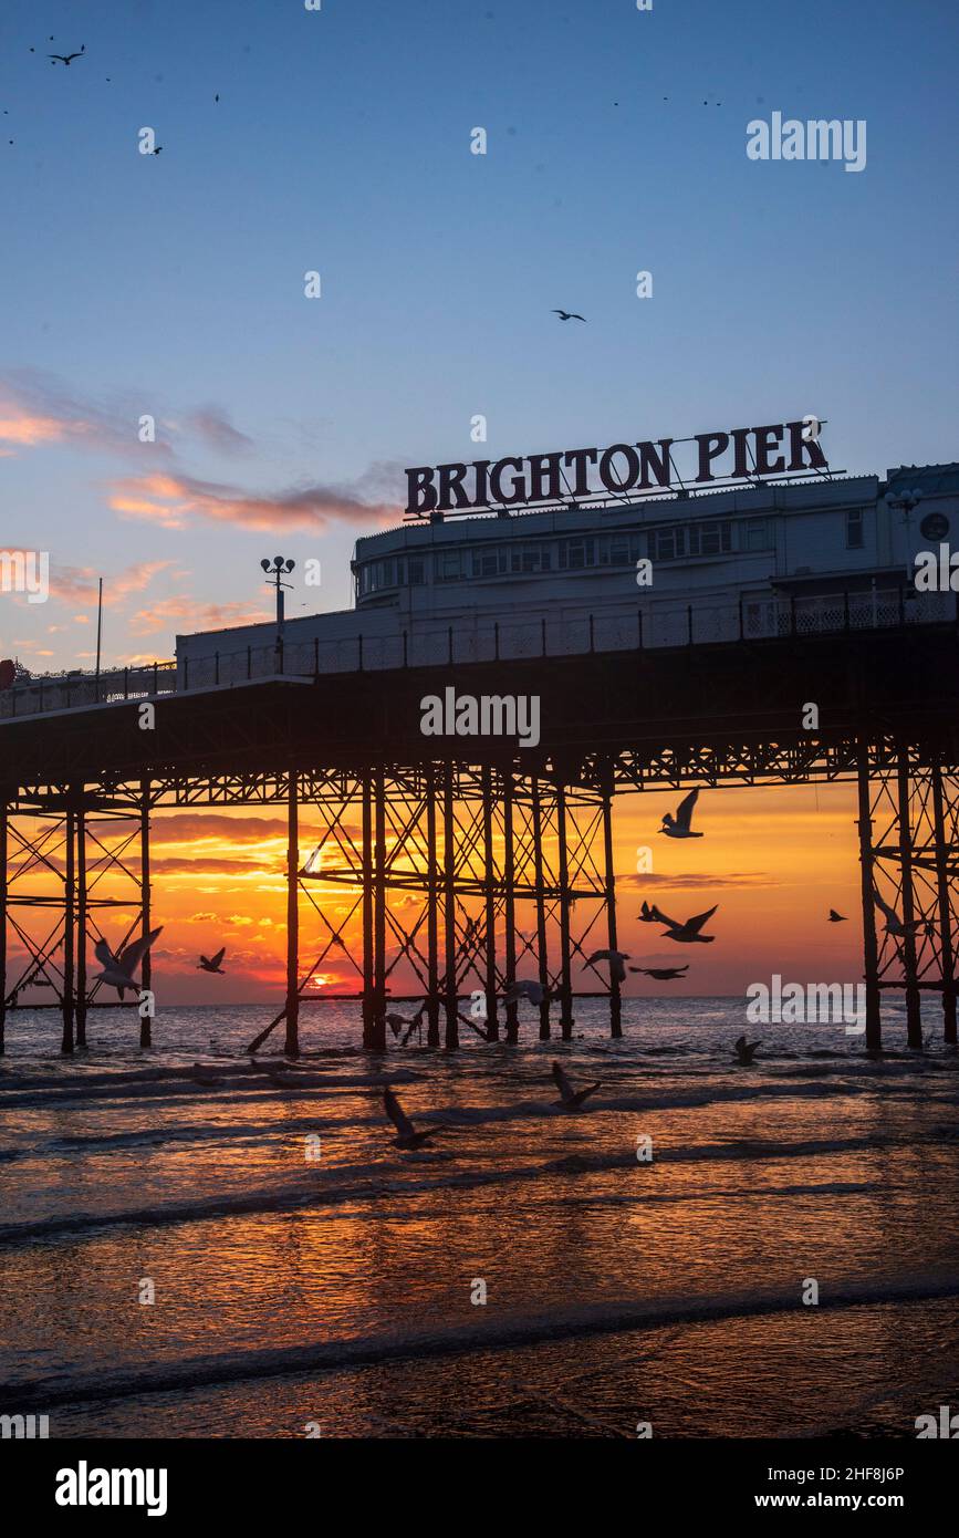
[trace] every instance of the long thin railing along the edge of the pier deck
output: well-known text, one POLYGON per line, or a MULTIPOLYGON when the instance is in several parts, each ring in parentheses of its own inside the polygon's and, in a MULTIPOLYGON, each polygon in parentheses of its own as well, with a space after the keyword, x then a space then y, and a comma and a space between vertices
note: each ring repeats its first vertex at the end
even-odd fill
MULTIPOLYGON (((361 620, 361 614, 357 615, 361 620)), ((184 655, 180 661, 34 677, 0 691, 0 720, 141 700, 192 689, 235 687, 263 678, 314 678, 324 674, 440 667, 458 663, 575 657, 653 647, 702 646, 885 631, 959 620, 959 595, 918 594, 913 588, 810 597, 744 595, 736 604, 656 604, 584 615, 539 615, 526 621, 486 621, 466 611, 455 624, 410 624, 390 635, 284 641, 240 651, 184 655)))

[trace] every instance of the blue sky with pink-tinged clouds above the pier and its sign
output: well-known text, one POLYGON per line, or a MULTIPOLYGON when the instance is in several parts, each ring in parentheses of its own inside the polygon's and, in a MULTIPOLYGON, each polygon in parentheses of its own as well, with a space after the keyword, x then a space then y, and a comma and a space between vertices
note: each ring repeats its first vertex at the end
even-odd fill
POLYGON ((255 614, 278 551, 341 606, 401 466, 476 457, 478 412, 484 457, 813 411, 835 468, 954 458, 957 32, 887 0, 6 0, 0 508, 54 592, 0 595, 0 654, 88 661, 97 574, 106 661, 255 614), (773 111, 865 118, 865 171, 750 161, 773 111))

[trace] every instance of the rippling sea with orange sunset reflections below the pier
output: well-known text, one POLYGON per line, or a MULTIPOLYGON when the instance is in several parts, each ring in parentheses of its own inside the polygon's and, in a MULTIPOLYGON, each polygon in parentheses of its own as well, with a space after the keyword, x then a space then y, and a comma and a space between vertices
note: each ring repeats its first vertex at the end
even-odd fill
POLYGON ((263 1004, 8 1017, 0 1415, 57 1438, 914 1436, 959 1410, 959 1058, 744 1003, 257 1058, 263 1004), (558 1107, 552 1064, 599 1081, 558 1107), (389 1083, 429 1146, 403 1152, 389 1083))

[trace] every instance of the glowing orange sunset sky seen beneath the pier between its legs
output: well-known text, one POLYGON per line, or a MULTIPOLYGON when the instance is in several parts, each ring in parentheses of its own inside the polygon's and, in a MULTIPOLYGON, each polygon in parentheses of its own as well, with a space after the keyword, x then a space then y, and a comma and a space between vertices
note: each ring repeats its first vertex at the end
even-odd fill
MULTIPOLYGON (((770 787, 702 791, 696 824, 705 837, 676 841, 659 837, 662 812, 675 807, 679 794, 644 792, 616 801, 615 841, 618 880, 619 947, 635 964, 690 963, 684 983, 672 984, 684 994, 742 994, 748 983, 779 972, 793 981, 858 981, 862 977, 859 864, 854 826, 854 787, 770 787), (652 849, 653 874, 639 875, 638 851, 652 849), (659 927, 636 920, 642 898, 656 901, 673 918, 719 903, 707 932, 716 940, 708 946, 678 946, 661 938, 659 927), (828 907, 848 915, 848 924, 828 924, 828 907)), ((132 824, 129 824, 132 829, 132 824)), ((98 824, 92 824, 94 829, 98 824)), ((108 824, 109 827, 109 824, 108 824)), ((117 829, 120 824, 117 824, 117 829)), ((106 834, 115 844, 120 834, 106 834)), ((301 858, 312 847, 317 824, 309 809, 301 814, 301 858)), ((137 844, 129 847, 131 864, 137 844)), ((88 854, 91 866, 95 851, 88 854)), ((151 863, 154 923, 163 935, 154 950, 154 987, 158 1006, 168 1003, 281 1001, 284 986, 286 915, 286 821, 283 811, 181 809, 158 811, 152 818, 151 863), (200 952, 211 955, 226 946, 226 977, 197 970, 200 952)), ((31 877, 20 891, 45 891, 43 880, 31 877)), ((131 898, 129 906, 100 910, 111 943, 118 943, 135 917, 132 881, 112 872, 94 892, 131 898)), ((310 883, 318 903, 338 917, 355 894, 329 883, 310 883)), ((392 894, 392 904, 403 917, 412 915, 420 898, 392 894)), ((579 903, 575 927, 589 918, 589 904, 579 903)), ((470 907, 480 912, 478 901, 470 907)), ((20 921, 29 915, 15 910, 20 921)), ((321 946, 323 926, 306 897, 301 897, 303 970, 321 946)), ((31 917, 38 927, 48 917, 31 917)), ((518 910, 516 924, 533 929, 529 904, 518 910)), ((347 935, 358 940, 358 920, 347 935)), ((602 946, 599 929, 590 947, 602 946)), ((358 954, 358 952, 357 952, 358 954)), ((389 957, 392 957, 392 950, 389 957)), ((11 944, 11 970, 17 946, 11 944)), ((91 955, 91 970, 95 963, 91 955)), ((343 960, 324 964, 329 986, 353 990, 355 974, 343 960)), ((535 975, 529 958, 521 975, 535 975)), ((593 987, 590 974, 575 963, 575 981, 593 987)), ((627 992, 662 992, 667 984, 647 978, 629 980, 627 992)), ((393 992, 406 990, 398 972, 393 992)))

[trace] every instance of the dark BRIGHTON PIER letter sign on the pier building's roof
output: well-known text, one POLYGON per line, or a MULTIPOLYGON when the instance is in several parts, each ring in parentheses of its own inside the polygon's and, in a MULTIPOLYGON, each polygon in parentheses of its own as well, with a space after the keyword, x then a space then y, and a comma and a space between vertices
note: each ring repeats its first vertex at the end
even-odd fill
POLYGON ((420 464, 406 472, 406 514, 438 520, 447 512, 509 512, 606 497, 632 500, 658 489, 689 491, 690 486, 828 472, 819 429, 816 417, 802 417, 767 428, 698 432, 692 438, 613 443, 609 449, 556 449, 470 464, 420 464), (676 464, 675 449, 681 449, 684 472, 676 464))

